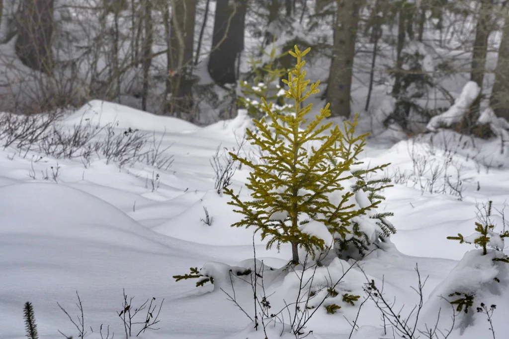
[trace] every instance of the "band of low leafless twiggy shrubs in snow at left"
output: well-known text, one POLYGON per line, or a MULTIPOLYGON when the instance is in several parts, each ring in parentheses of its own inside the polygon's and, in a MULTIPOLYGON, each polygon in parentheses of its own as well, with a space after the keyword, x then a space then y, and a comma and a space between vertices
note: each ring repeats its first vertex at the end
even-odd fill
POLYGON ((62 116, 0 113, 0 145, 4 149, 15 147, 23 158, 30 151, 54 159, 80 158, 85 168, 94 158, 105 159, 107 164, 114 162, 120 168, 144 162, 167 171, 173 164, 173 156, 166 154, 171 145, 161 147, 166 133, 156 139, 154 132, 150 138, 148 133, 132 128, 118 131, 118 122, 100 127, 89 119, 68 127, 62 123, 62 116))

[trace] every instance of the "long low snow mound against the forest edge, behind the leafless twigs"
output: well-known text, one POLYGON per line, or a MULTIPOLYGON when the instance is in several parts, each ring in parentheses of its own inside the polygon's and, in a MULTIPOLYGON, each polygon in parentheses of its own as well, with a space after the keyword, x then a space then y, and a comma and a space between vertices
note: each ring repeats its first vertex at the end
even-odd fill
POLYGON ((90 121, 99 126, 115 124, 118 128, 143 131, 194 132, 200 128, 190 122, 170 116, 154 115, 128 106, 92 100, 66 118, 70 125, 90 121))

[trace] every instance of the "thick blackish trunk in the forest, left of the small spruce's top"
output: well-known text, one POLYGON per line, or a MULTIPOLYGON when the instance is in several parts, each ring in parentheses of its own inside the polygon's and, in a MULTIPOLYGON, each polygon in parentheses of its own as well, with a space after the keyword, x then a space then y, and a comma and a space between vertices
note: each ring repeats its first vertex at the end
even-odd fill
POLYGON ((209 74, 215 83, 225 85, 237 82, 236 60, 244 49, 246 2, 217 0, 209 58, 209 74))

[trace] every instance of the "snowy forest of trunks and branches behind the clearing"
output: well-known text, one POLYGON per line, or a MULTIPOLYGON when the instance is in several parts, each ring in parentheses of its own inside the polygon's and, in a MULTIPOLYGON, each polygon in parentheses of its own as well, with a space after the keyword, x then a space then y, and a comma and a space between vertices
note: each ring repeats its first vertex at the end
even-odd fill
POLYGON ((2 0, 0 110, 101 99, 208 125, 236 116, 242 81, 277 85, 267 66, 284 76, 298 44, 313 47, 310 77, 326 83, 315 100, 333 117, 422 132, 472 81, 453 127, 483 135, 486 108, 509 118, 508 11, 501 0, 2 0))

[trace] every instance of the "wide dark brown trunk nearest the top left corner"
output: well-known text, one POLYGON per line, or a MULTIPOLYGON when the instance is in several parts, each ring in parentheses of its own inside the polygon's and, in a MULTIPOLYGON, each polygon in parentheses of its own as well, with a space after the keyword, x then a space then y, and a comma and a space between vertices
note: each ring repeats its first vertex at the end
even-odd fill
POLYGON ((18 21, 16 55, 33 70, 53 72, 53 0, 23 0, 18 21))

